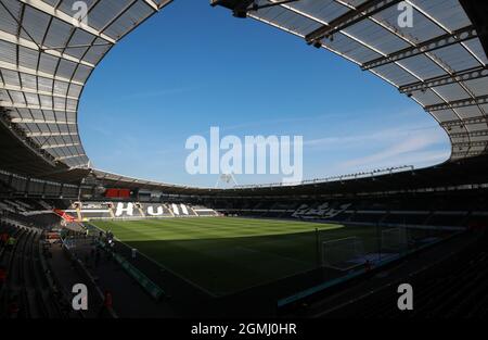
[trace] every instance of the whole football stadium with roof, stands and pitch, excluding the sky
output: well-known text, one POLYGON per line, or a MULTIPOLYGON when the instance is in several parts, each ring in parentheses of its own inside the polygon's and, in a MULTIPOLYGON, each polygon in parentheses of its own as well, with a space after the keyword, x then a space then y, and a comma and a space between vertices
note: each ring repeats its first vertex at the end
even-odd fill
POLYGON ((488 316, 485 1, 211 0, 377 76, 451 149, 424 168, 226 188, 105 172, 81 142, 92 72, 170 5, 0 0, 2 318, 488 316))

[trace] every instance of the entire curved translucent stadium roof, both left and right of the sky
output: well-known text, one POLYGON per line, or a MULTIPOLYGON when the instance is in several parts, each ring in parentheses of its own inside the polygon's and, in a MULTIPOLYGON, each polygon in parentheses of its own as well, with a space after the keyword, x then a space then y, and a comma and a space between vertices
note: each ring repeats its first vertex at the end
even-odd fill
MULTIPOLYGON (((257 0, 274 5, 248 16, 337 53, 411 97, 449 135, 451 160, 487 152, 485 1, 406 1, 412 27, 399 26, 398 0, 280 1, 257 0)), ((37 169, 21 168, 2 155, 2 167, 37 176, 88 169, 77 125, 85 84, 115 43, 171 0, 86 0, 86 25, 74 18, 74 2, 0 0, 0 106, 8 110, 1 123, 44 159, 37 169)), ((213 2, 235 10, 246 1, 213 2)))

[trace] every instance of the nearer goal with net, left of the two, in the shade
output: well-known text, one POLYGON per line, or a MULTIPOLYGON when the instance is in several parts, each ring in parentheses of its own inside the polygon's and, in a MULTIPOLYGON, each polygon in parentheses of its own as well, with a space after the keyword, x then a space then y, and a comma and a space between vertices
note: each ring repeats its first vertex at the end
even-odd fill
POLYGON ((365 262, 364 247, 358 237, 322 242, 322 265, 349 270, 365 262))

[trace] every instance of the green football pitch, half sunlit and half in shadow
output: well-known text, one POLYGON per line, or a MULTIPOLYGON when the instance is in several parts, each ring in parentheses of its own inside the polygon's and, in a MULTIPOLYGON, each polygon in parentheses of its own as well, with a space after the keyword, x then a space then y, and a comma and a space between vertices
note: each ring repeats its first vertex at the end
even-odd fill
POLYGON ((313 269, 317 244, 325 240, 356 236, 364 250, 375 243, 375 228, 295 221, 197 217, 91 224, 214 294, 313 269))

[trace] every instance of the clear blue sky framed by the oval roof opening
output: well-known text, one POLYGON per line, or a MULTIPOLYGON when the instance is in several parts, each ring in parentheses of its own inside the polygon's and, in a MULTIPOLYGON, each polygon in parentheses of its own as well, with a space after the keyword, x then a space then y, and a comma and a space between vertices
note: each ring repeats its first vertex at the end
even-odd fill
MULTIPOLYGON (((304 178, 449 158, 449 141, 415 102, 371 73, 290 34, 179 0, 119 42, 89 79, 80 135, 101 169, 191 186, 185 141, 221 135, 304 136, 304 178)), ((239 184, 280 175, 239 175, 239 184)))

